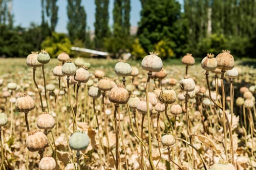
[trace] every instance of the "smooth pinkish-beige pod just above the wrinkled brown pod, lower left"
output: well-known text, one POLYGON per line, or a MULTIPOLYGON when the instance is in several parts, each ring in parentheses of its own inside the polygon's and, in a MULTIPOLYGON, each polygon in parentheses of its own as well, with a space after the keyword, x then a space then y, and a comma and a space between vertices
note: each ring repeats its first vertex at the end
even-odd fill
POLYGON ((55 120, 48 112, 43 112, 37 118, 37 127, 39 129, 52 129, 54 126, 55 120))

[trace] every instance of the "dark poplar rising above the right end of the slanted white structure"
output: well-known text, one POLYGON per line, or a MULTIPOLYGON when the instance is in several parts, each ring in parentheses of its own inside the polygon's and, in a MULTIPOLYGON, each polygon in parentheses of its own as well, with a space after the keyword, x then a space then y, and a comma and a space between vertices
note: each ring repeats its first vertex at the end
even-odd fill
POLYGON ((95 11, 95 47, 96 49, 103 48, 103 39, 108 37, 110 30, 108 27, 108 4, 109 0, 95 0, 96 11, 95 11))

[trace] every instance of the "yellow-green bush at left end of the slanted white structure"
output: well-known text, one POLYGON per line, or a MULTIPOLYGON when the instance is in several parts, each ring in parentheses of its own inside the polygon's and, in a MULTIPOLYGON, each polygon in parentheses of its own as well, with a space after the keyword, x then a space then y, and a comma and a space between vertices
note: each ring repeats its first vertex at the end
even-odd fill
POLYGON ((46 37, 41 46, 52 58, 55 58, 61 52, 70 53, 71 42, 65 34, 53 32, 51 36, 46 37))

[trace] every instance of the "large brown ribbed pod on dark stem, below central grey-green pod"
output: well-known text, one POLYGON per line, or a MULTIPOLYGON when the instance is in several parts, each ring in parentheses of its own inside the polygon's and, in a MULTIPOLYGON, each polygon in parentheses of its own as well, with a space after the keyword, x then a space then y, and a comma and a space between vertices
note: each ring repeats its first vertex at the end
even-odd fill
POLYGON ((126 104, 129 100, 129 92, 123 84, 118 84, 109 91, 108 99, 113 103, 126 104))

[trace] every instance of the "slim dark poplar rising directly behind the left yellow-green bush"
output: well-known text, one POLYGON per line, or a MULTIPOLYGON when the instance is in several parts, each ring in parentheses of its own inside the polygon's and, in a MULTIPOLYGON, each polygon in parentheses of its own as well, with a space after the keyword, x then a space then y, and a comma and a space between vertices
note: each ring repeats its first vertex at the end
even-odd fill
POLYGON ((56 5, 57 0, 46 0, 46 15, 50 18, 50 30, 55 31, 58 23, 58 10, 59 7, 56 5))

